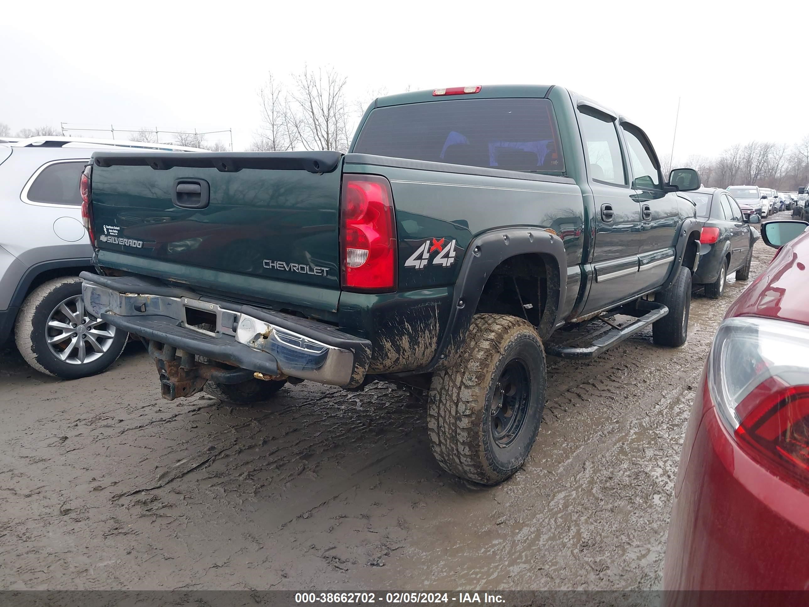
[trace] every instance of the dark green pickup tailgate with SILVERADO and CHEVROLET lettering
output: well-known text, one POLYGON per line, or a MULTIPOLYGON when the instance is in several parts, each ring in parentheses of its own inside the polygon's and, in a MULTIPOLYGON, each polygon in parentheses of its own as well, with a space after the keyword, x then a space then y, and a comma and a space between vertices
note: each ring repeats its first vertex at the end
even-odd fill
POLYGON ((96 245, 159 278, 188 267, 338 291, 341 165, 337 152, 96 152, 96 245))

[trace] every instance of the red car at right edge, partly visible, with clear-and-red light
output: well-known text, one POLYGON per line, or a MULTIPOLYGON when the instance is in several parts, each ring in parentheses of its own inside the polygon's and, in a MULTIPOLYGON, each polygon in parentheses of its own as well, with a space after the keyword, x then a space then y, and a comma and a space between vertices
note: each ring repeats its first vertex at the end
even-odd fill
MULTIPOLYGON (((677 473, 666 591, 809 591, 807 229, 800 221, 762 225, 778 251, 714 337, 677 473)), ((666 595, 669 605, 718 599, 666 595)), ((727 604, 809 601, 809 592, 734 596, 727 604)))

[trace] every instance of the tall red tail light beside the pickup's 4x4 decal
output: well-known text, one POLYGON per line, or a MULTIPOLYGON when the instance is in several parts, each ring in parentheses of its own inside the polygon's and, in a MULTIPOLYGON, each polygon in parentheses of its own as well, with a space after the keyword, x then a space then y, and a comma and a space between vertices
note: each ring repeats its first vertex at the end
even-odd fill
POLYGON ((346 291, 396 290, 396 221, 384 177, 343 177, 341 249, 346 291))

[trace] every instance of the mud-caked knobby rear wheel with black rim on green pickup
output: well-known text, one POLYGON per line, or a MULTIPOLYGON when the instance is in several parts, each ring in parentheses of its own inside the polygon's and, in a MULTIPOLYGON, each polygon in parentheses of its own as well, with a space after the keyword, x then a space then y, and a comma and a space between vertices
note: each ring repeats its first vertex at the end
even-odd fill
POLYGON ((502 314, 477 314, 456 361, 451 367, 437 371, 430 384, 427 400, 430 447, 447 472, 484 485, 496 485, 523 465, 540 429, 545 402, 544 348, 536 329, 527 320, 502 314), (518 383, 527 387, 527 396, 525 391, 510 395, 502 391, 504 371, 520 376, 518 383), (506 398, 513 399, 511 405, 501 400, 506 398), (512 405, 519 426, 498 441, 495 438, 498 431, 510 430, 504 429, 498 419, 512 405))

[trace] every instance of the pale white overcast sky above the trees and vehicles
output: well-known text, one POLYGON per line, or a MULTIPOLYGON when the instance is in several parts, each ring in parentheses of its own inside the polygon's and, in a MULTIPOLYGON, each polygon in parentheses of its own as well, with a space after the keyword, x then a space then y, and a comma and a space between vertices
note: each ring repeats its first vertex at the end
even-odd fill
POLYGON ((381 87, 558 84, 631 117, 661 157, 681 97, 675 157, 715 155, 809 134, 807 5, 8 2, 0 122, 232 127, 239 150, 267 72, 307 63, 333 66, 363 100, 381 87))

